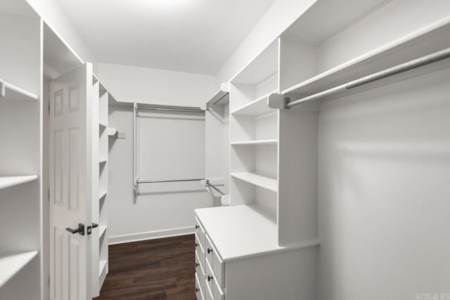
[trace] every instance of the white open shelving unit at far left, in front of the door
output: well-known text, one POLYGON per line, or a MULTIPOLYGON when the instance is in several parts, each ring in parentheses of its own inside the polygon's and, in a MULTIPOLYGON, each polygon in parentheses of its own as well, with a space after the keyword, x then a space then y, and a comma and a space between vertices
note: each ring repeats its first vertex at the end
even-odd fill
POLYGON ((0 299, 41 299, 41 19, 13 2, 0 4, 0 299))

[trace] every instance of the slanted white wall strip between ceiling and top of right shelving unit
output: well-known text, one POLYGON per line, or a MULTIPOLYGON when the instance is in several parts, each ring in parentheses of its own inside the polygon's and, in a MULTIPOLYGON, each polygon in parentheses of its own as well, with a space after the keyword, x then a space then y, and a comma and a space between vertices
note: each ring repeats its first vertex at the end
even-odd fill
POLYGON ((269 46, 316 0, 276 0, 216 74, 216 87, 228 82, 269 46))

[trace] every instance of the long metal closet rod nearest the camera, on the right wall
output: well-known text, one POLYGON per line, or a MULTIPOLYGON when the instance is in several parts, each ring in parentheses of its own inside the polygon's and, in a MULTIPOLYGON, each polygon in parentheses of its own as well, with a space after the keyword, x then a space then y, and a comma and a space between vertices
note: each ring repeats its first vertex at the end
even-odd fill
POLYGON ((409 60, 406 63, 401 63, 400 65, 396 65, 394 67, 387 68, 380 72, 375 72, 365 77, 361 77, 359 79, 349 81, 346 84, 342 84, 340 86, 335 86, 332 89, 328 89, 326 91, 322 91, 320 93, 315 93, 311 96, 307 96, 301 98, 299 100, 290 101, 290 98, 285 98, 285 108, 290 108, 300 103, 304 103, 311 100, 316 100, 319 98, 323 98, 326 96, 334 95, 336 93, 340 93, 342 91, 347 91, 349 89, 354 89, 357 86, 362 86, 364 84, 371 83, 373 81, 377 81, 386 77, 391 77, 396 74, 400 74, 409 70, 416 69, 418 67, 422 67, 424 65, 429 65, 430 63, 436 63, 439 60, 444 60, 446 58, 450 58, 450 48, 445 48, 444 50, 437 51, 435 53, 429 54, 428 56, 422 56, 421 58, 416 58, 414 60, 409 60))

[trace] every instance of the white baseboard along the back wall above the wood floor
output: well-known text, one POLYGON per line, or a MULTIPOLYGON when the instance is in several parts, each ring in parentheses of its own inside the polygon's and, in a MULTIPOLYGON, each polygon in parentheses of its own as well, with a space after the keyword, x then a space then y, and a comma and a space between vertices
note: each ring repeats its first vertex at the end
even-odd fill
POLYGON ((193 226, 173 228, 167 230, 150 231, 147 233, 131 233, 129 235, 113 235, 108 237, 108 244, 123 244, 125 242, 139 242, 141 240, 154 240, 161 237, 174 237, 178 235, 191 235, 195 231, 193 226))

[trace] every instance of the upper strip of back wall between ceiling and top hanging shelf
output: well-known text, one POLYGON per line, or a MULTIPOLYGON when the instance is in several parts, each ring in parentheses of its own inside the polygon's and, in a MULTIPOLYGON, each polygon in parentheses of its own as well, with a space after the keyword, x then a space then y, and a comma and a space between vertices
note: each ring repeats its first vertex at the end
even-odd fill
POLYGON ((198 107, 215 92, 211 75, 100 63, 98 76, 121 102, 198 107))

